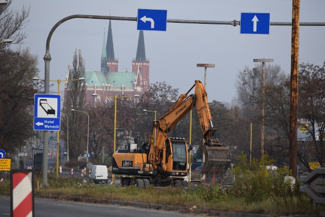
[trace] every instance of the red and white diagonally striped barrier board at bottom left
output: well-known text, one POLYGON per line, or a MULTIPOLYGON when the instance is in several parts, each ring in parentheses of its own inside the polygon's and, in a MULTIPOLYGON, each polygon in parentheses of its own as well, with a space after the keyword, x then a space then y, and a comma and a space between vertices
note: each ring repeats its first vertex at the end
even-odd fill
POLYGON ((34 175, 32 170, 12 170, 11 216, 34 216, 34 175))

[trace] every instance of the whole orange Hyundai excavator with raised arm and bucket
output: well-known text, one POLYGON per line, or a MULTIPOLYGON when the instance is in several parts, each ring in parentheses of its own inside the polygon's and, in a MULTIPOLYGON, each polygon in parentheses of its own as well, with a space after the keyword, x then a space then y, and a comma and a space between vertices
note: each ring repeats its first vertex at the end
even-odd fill
POLYGON ((112 173, 121 176, 122 185, 137 185, 138 188, 154 186, 187 187, 188 145, 184 138, 171 138, 169 132, 193 108, 200 120, 205 155, 202 175, 222 177, 231 162, 231 152, 214 138, 216 129, 208 104, 207 92, 201 81, 179 96, 172 108, 158 118, 152 127, 147 143, 129 144, 127 149, 113 154, 112 173), (194 94, 188 95, 194 89, 194 94))

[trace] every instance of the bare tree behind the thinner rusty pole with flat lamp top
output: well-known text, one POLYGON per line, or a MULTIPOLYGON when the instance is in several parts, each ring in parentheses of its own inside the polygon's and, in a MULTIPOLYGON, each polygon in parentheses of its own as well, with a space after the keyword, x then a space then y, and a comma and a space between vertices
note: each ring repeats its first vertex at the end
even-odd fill
MULTIPOLYGON (((278 65, 267 65, 265 73, 265 150, 283 163, 287 158, 289 77, 278 65)), ((243 118, 253 124, 253 147, 261 150, 262 66, 246 67, 236 80, 237 102, 243 118)), ((254 149, 254 148, 253 148, 254 149)))

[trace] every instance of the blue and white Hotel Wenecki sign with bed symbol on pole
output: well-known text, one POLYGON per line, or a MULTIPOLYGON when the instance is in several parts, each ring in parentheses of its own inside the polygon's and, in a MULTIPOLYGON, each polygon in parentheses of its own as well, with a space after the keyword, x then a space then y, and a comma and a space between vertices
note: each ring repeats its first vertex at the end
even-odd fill
POLYGON ((36 94, 34 99, 34 130, 60 130, 61 96, 36 94))

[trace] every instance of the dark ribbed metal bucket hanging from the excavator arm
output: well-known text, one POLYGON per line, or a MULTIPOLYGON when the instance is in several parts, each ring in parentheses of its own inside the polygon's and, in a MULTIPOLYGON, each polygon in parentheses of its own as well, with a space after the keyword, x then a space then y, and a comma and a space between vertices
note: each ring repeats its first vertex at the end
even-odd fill
POLYGON ((232 158, 229 148, 225 146, 204 145, 203 153, 205 154, 205 162, 201 174, 222 177, 228 170, 232 158))

